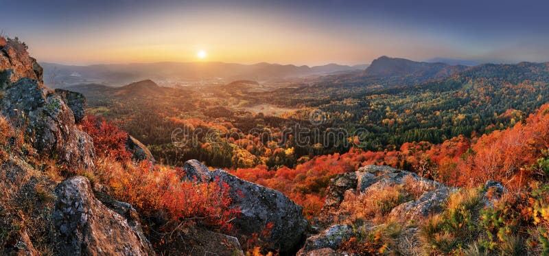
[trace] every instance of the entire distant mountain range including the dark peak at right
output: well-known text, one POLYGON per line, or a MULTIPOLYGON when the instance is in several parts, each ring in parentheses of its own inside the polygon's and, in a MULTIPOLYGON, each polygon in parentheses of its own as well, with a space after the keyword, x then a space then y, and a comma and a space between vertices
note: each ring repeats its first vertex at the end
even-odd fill
POLYGON ((445 78, 464 71, 476 62, 433 58, 416 62, 404 58, 382 56, 371 65, 296 66, 266 62, 242 65, 224 62, 156 62, 121 65, 69 66, 42 63, 45 84, 52 88, 74 84, 106 84, 123 86, 135 81, 154 80, 161 86, 189 86, 229 84, 235 80, 266 82, 295 82, 293 79, 322 78, 354 80, 368 84, 405 85, 445 78), (466 65, 456 64, 463 63, 466 65), (454 65, 455 64, 455 65, 454 65))

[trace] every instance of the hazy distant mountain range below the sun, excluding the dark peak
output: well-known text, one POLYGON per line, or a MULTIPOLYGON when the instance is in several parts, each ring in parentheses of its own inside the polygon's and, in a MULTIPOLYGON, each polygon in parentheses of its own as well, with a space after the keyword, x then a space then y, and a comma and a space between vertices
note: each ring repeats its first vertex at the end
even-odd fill
POLYGON ((71 84, 99 83, 121 86, 130 82, 152 79, 161 85, 189 85, 193 82, 226 84, 233 80, 277 82, 287 78, 364 70, 368 65, 296 66, 266 62, 242 65, 224 62, 156 62, 122 65, 70 66, 40 63, 45 83, 51 87, 71 84))

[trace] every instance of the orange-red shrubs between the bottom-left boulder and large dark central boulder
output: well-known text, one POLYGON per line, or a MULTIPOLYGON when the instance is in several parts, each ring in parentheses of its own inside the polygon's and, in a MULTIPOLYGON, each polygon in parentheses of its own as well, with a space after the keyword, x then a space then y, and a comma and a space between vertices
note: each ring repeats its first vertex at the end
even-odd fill
MULTIPOLYGON (((164 212, 174 224, 200 223, 229 231, 240 209, 231 208, 226 183, 181 181, 180 170, 148 161, 121 163, 97 161, 96 175, 118 200, 124 200, 143 216, 164 212)), ((168 225, 169 227, 170 225, 168 225)))

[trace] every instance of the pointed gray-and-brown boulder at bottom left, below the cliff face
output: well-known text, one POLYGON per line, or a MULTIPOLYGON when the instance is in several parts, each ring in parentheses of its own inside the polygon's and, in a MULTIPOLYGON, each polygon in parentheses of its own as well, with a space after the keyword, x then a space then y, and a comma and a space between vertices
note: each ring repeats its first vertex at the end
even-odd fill
POLYGON ((93 196, 87 178, 68 178, 56 194, 53 218, 61 255, 154 255, 143 234, 93 196))

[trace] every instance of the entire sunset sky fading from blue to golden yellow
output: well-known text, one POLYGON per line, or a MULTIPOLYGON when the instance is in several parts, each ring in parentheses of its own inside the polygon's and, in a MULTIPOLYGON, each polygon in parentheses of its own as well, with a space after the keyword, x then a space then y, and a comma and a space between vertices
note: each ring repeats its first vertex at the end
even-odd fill
POLYGON ((547 1, 0 0, 43 62, 549 61, 547 1), (198 58, 199 51, 204 51, 198 58))

